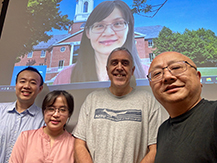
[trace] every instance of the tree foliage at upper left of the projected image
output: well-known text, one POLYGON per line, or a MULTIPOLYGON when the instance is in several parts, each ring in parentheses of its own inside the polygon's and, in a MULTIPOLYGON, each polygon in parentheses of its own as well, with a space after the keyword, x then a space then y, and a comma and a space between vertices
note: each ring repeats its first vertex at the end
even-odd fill
MULTIPOLYGON (((52 36, 46 32, 52 29, 67 30, 73 23, 67 15, 62 15, 60 2, 62 0, 29 0, 25 15, 25 39, 19 56, 30 52, 34 45, 48 41, 52 36)), ((19 57, 18 57, 19 58, 19 57)))

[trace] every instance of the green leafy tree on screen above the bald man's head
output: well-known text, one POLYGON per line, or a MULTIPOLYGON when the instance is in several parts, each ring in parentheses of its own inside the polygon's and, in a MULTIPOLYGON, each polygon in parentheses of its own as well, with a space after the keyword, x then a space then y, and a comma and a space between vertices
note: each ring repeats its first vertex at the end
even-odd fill
POLYGON ((176 51, 191 58, 197 66, 215 66, 217 64, 217 37, 211 30, 185 29, 184 33, 172 32, 164 27, 154 40, 153 52, 158 55, 165 51, 176 51))

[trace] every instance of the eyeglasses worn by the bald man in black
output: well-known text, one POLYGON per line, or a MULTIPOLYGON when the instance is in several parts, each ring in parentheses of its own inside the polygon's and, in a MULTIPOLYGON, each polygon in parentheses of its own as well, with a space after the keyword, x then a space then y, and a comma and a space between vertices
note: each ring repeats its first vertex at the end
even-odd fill
POLYGON ((164 69, 166 69, 166 68, 174 76, 181 75, 182 73, 184 73, 187 70, 187 65, 193 67, 197 71, 197 68, 192 66, 187 61, 180 61, 180 62, 172 63, 172 64, 170 64, 164 68, 157 68, 157 69, 151 71, 147 75, 147 77, 148 77, 149 81, 152 81, 152 82, 160 81, 163 78, 164 69))

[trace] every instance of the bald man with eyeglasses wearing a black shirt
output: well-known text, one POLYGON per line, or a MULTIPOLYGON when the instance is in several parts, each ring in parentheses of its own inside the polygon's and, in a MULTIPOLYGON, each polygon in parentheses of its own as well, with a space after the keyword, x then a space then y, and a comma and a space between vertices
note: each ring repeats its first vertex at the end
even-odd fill
POLYGON ((194 62, 164 52, 152 61, 148 78, 170 115, 158 131, 155 162, 217 162, 217 101, 201 98, 201 74, 194 62))

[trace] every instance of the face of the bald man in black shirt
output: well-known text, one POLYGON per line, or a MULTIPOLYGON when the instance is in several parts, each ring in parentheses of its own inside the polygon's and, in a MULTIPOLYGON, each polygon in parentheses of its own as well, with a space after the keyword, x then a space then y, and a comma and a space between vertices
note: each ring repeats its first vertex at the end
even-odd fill
MULTIPOLYGON (((165 52, 152 61, 149 72, 178 61, 188 61, 196 67, 192 60, 180 53, 165 52)), ((150 82, 150 86, 156 99, 167 109, 167 106, 172 106, 177 102, 194 104, 200 100, 202 86, 200 79, 200 72, 187 65, 187 70, 177 76, 172 75, 168 69, 164 69, 163 78, 157 82, 150 82)))

